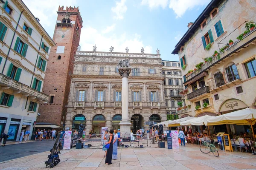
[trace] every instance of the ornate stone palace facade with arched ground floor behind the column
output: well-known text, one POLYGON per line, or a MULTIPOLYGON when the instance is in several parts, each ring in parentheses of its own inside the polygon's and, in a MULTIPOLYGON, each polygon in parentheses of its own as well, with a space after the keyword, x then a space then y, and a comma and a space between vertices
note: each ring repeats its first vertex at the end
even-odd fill
MULTIPOLYGON (((112 51, 112 50, 111 50, 112 51)), ((71 75, 65 127, 78 129, 82 123, 96 134, 101 127, 119 128, 122 119, 122 77, 120 60, 129 59, 128 77, 131 130, 147 129, 166 121, 162 60, 160 54, 76 51, 71 75)), ((180 82, 181 85, 181 82, 180 82)))

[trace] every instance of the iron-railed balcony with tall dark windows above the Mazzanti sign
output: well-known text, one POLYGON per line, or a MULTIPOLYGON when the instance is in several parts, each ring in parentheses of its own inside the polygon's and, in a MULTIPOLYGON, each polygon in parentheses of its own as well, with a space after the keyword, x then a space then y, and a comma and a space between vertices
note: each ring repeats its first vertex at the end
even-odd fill
POLYGON ((226 72, 223 75, 215 77, 208 82, 209 91, 217 91, 218 89, 224 90, 225 88, 230 88, 233 85, 238 85, 241 83, 241 78, 239 76, 239 70, 233 69, 226 72))

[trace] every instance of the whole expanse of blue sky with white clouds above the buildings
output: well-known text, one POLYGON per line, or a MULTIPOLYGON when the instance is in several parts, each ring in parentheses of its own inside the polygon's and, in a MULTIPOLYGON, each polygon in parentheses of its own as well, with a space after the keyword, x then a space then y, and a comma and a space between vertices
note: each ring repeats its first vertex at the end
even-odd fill
POLYGON ((210 0, 23 0, 52 37, 58 6, 79 6, 83 18, 80 45, 82 51, 156 54, 163 60, 178 61, 171 54, 174 46, 210 0), (185 5, 186 4, 186 5, 185 5))

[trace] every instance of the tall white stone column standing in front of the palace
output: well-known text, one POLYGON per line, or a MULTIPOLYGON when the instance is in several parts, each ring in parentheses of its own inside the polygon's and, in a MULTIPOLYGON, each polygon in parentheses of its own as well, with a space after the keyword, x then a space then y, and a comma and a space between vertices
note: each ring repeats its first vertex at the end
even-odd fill
POLYGON ((128 119, 128 76, 131 73, 131 68, 119 68, 119 74, 122 76, 122 120, 119 123, 122 134, 129 134, 131 131, 131 122, 128 119))

